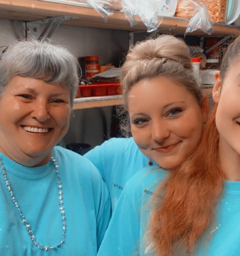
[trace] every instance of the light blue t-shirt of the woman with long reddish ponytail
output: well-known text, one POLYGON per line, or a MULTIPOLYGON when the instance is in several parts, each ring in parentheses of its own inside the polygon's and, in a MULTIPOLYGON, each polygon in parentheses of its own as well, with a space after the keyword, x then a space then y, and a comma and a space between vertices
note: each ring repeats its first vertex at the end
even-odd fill
MULTIPOLYGON (((167 171, 147 167, 127 182, 106 231, 98 256, 143 256, 152 251, 146 246, 149 213, 154 192, 166 177, 167 171)), ((216 207, 214 227, 203 234, 191 256, 240 255, 240 182, 225 181, 222 197, 216 207), (212 237, 209 242, 209 234, 212 237)), ((152 254, 147 254, 152 255, 152 254)), ((174 256, 189 254, 178 250, 174 256)))

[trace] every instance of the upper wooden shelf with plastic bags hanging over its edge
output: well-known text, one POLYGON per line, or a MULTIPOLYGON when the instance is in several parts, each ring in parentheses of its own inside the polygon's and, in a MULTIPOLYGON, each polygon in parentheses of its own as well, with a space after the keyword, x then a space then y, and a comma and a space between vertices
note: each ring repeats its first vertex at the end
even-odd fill
MULTIPOLYGON (((121 29, 129 31, 146 30, 146 26, 136 17, 138 24, 131 27, 124 13, 115 12, 105 23, 103 18, 92 8, 67 5, 63 3, 45 2, 40 0, 0 0, 0 18, 34 21, 47 17, 70 15, 78 17, 72 21, 64 21, 63 24, 86 27, 99 27, 107 29, 121 29)), ((163 18, 161 33, 184 34, 188 20, 181 18, 163 18)), ((213 26, 214 36, 238 35, 240 27, 218 24, 213 26)), ((206 35, 202 31, 195 31, 191 35, 206 35)))

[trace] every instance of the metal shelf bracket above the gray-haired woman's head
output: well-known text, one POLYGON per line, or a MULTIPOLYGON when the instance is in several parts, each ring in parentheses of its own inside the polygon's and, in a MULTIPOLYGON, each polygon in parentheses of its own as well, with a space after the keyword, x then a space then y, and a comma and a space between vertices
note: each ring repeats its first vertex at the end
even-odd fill
POLYGON ((59 27, 62 21, 73 20, 77 19, 78 17, 72 16, 59 16, 59 17, 52 17, 47 19, 39 19, 36 21, 27 21, 26 22, 26 38, 39 34, 40 25, 47 23, 45 28, 43 29, 42 33, 39 35, 38 40, 40 38, 50 38, 54 31, 59 27))

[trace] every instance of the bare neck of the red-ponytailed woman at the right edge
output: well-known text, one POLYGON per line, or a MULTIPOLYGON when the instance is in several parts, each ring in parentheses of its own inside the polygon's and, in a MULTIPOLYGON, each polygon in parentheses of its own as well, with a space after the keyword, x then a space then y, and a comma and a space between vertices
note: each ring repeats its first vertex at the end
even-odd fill
POLYGON ((219 139, 219 158, 226 179, 240 181, 240 155, 221 136, 219 139))

